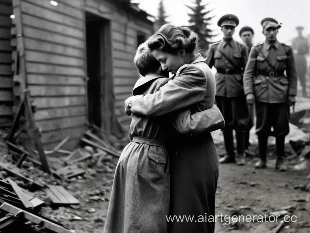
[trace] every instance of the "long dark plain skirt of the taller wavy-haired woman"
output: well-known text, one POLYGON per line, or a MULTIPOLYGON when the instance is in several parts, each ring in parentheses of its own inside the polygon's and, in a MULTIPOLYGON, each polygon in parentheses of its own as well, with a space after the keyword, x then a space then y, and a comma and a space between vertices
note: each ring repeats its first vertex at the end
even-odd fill
POLYGON ((170 157, 169 213, 171 218, 184 219, 170 220, 169 232, 214 232, 215 221, 211 220, 212 216, 215 219, 218 177, 219 160, 211 134, 184 137, 177 153, 170 157), (193 217, 193 221, 187 222, 185 216, 193 217))

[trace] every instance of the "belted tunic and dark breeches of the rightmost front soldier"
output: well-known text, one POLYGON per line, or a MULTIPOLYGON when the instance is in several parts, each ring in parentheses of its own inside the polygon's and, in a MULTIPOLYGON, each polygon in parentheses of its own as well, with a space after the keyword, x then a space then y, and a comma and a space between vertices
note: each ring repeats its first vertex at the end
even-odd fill
POLYGON ((273 45, 264 42, 253 46, 243 82, 245 94, 253 93, 255 96, 256 133, 269 135, 272 126, 274 136, 287 135, 287 98, 297 93, 297 71, 292 48, 279 41, 273 45), (274 68, 268 65, 266 58, 274 68))

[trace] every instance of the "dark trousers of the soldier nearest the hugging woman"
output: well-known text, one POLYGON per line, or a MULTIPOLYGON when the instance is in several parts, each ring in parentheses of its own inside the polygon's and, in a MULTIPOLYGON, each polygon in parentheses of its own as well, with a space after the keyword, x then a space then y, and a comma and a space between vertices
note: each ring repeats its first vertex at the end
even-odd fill
POLYGON ((228 155, 233 156, 234 145, 232 130, 236 131, 237 153, 243 154, 245 150, 246 132, 249 130, 249 109, 246 104, 246 96, 222 97, 215 96, 216 106, 221 111, 225 126, 223 131, 225 150, 228 155))

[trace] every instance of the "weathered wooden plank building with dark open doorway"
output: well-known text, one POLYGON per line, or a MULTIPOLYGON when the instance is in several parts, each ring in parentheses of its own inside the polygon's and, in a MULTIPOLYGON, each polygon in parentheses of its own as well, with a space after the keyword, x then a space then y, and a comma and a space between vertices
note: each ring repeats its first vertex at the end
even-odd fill
POLYGON ((10 126, 25 89, 44 149, 88 123, 128 132, 124 101, 139 78, 133 58, 153 22, 130 0, 0 0, 0 124, 10 126))

